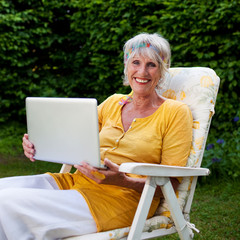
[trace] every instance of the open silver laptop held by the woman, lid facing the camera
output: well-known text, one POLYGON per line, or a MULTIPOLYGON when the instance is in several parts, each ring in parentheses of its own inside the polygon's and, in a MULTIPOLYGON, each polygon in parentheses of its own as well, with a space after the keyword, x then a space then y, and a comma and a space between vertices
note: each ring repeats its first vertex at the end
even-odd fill
POLYGON ((96 99, 27 97, 26 118, 36 160, 104 168, 96 99))

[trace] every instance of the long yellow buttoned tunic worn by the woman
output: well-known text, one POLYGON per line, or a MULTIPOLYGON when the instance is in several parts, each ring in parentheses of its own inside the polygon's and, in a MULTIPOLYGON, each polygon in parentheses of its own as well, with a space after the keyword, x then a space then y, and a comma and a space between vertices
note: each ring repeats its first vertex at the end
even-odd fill
MULTIPOLYGON (((107 157, 119 165, 143 162, 185 166, 192 141, 192 114, 187 105, 168 99, 152 115, 134 119, 125 132, 121 120, 125 99, 125 95, 114 94, 98 107, 101 159, 107 157)), ((96 184, 79 171, 51 175, 60 189, 75 189, 84 196, 98 231, 131 225, 140 199, 138 192, 96 184)), ((159 201, 154 198, 148 217, 153 216, 159 201)))

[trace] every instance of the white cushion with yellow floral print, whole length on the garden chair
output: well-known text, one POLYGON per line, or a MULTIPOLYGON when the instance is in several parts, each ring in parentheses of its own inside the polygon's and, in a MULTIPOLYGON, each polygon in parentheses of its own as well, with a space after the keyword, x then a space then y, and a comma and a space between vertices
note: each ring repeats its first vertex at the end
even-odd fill
MULTIPOLYGON (((193 142, 187 166, 201 165, 208 128, 214 114, 214 105, 219 88, 219 77, 210 68, 170 68, 159 94, 186 103, 193 114, 193 142)), ((191 178, 183 178, 176 196, 183 209, 191 187, 191 178)), ((170 228, 173 221, 167 203, 163 199, 154 217, 145 223, 146 232, 170 228)), ((129 227, 107 232, 71 238, 72 240, 126 239, 129 227)), ((70 238, 69 238, 70 239, 70 238)))

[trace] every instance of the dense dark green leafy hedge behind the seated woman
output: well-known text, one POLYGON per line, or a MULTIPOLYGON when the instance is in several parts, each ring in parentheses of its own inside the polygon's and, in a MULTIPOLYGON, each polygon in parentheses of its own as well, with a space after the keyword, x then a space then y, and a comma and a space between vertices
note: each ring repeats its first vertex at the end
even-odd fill
POLYGON ((128 92, 123 44, 158 32, 171 44, 173 67, 206 66, 219 75, 204 166, 239 177, 239 25, 239 0, 1 0, 0 123, 24 125, 27 96, 101 102, 128 92))

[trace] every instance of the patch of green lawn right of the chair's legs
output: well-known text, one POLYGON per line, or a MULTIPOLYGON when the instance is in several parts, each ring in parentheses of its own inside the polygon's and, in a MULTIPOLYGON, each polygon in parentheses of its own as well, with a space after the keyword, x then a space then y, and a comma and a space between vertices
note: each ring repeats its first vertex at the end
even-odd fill
MULTIPOLYGON (((191 222, 200 230, 194 239, 240 239, 240 187, 235 181, 198 185, 191 209, 191 222)), ((160 239, 160 238, 158 238, 160 239)), ((179 239, 177 234, 161 240, 179 239)))

